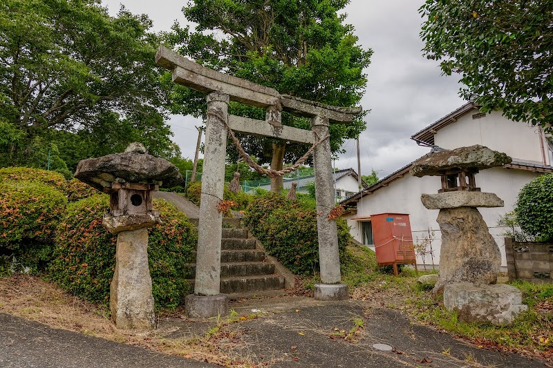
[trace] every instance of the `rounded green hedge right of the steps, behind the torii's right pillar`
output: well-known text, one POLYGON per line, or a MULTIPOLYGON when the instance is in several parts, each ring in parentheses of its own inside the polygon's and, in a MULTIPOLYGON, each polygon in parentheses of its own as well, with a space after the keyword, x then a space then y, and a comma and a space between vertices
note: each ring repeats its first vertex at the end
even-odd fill
MULTIPOLYGON (((301 202, 286 200, 281 193, 255 197, 244 217, 245 225, 262 243, 265 251, 297 274, 312 275, 319 269, 317 211, 301 202)), ((346 262, 350 240, 345 220, 338 218, 340 262, 346 262)))

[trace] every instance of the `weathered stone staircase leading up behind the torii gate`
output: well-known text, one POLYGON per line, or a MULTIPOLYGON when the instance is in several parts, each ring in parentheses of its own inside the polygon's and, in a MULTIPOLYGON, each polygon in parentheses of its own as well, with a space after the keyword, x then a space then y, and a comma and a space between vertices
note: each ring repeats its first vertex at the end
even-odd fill
MULTIPOLYGON (((268 260, 247 229, 223 228, 221 240, 221 293, 229 298, 278 293, 285 288, 287 270, 268 260), (279 268, 280 272, 276 269, 279 268)), ((288 271, 289 273, 290 271, 288 271)), ((191 283, 196 275, 196 263, 187 264, 186 278, 191 283)), ((288 282, 290 282, 290 275, 288 282)), ((292 275, 293 280, 293 275, 292 275)))

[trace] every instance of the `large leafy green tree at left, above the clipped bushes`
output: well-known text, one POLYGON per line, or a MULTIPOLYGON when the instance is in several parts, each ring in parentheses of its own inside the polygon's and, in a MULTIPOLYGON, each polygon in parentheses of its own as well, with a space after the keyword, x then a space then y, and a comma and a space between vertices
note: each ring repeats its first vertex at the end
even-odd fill
MULTIPOLYGON (((151 21, 97 0, 0 2, 0 164, 55 143, 70 167, 133 140, 172 155, 151 21), (65 157, 77 148, 77 156, 65 157), (76 161, 75 161, 76 160, 76 161)), ((74 168, 74 167, 73 167, 74 168)))

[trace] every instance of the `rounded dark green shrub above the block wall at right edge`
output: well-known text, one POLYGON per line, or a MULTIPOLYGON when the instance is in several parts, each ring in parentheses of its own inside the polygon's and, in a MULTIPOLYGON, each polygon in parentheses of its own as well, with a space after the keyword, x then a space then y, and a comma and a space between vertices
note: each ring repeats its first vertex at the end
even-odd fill
POLYGON ((529 182, 518 193, 514 212, 521 229, 536 240, 553 240, 553 174, 529 182))

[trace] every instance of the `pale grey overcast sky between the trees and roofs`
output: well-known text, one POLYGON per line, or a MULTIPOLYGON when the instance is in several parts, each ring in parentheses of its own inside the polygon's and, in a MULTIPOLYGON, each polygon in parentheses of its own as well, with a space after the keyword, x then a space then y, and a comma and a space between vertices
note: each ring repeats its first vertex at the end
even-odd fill
MULTIPOLYGON (((186 23, 181 12, 185 0, 102 0, 111 14, 122 3, 135 14, 148 14, 153 30, 169 30, 175 20, 186 23)), ((419 32, 422 19, 418 8, 424 0, 351 0, 345 11, 346 23, 353 24, 363 48, 372 48, 371 65, 365 70, 368 86, 361 101, 371 109, 367 128, 360 137, 361 172, 371 169, 384 177, 409 164, 429 148, 417 146, 411 135, 432 124, 465 102, 458 97, 457 77, 441 75, 438 63, 422 57, 419 32)), ((193 158, 198 134, 192 117, 176 116, 169 125, 173 140, 184 157, 193 158)), ((337 168, 355 168, 355 140, 343 146, 337 168)))

